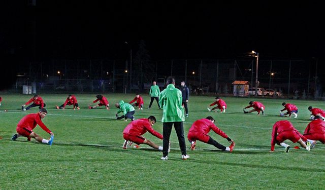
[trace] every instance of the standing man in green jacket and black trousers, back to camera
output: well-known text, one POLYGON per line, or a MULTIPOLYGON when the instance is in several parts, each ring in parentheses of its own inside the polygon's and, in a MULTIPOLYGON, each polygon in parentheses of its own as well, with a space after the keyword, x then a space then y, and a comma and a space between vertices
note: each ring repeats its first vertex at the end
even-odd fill
POLYGON ((184 138, 183 121, 184 109, 182 107, 182 92, 175 88, 175 79, 169 77, 167 79, 167 88, 160 93, 159 104, 163 106, 163 157, 161 160, 168 160, 169 138, 171 136, 172 127, 176 130, 179 147, 182 153, 182 159, 189 158, 186 155, 186 145, 184 138))

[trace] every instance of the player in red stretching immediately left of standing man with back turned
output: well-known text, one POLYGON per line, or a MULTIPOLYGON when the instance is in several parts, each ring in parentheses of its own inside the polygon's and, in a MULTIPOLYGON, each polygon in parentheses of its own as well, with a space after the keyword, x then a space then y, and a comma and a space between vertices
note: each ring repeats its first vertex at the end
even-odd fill
POLYGON ((143 118, 139 120, 135 120, 131 123, 129 123, 126 128, 123 130, 123 138, 125 139, 123 148, 127 148, 127 141, 130 141, 129 145, 132 144, 132 142, 136 144, 148 144, 149 146, 163 150, 163 146, 158 146, 152 141, 142 137, 141 135, 145 134, 147 131, 151 133, 152 135, 163 139, 163 135, 156 132, 154 129, 152 129, 153 124, 156 123, 156 118, 154 116, 150 116, 148 119, 143 118))

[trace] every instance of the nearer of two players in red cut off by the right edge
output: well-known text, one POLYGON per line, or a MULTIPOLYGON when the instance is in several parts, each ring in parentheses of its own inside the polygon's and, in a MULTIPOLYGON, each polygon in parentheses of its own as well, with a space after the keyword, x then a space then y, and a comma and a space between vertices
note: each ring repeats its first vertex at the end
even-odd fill
POLYGON ((311 148, 315 147, 317 140, 325 144, 325 122, 315 116, 315 120, 307 125, 304 137, 311 143, 311 148))

